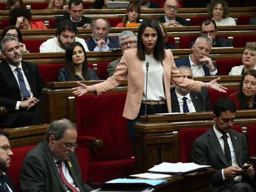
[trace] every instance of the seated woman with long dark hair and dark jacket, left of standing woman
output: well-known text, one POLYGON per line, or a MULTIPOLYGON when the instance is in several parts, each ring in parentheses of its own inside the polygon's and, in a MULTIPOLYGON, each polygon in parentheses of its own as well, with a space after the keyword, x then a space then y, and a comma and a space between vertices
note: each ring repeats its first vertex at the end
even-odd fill
POLYGON ((93 69, 87 66, 87 56, 83 45, 70 43, 66 48, 66 67, 59 70, 58 81, 99 80, 93 69))

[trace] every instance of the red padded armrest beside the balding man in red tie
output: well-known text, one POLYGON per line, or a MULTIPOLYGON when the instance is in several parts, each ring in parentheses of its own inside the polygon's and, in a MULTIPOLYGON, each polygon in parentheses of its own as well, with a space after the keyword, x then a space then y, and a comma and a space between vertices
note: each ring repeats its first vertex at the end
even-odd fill
POLYGON ((104 149, 104 141, 92 136, 78 136, 77 142, 80 146, 89 147, 94 152, 104 149))

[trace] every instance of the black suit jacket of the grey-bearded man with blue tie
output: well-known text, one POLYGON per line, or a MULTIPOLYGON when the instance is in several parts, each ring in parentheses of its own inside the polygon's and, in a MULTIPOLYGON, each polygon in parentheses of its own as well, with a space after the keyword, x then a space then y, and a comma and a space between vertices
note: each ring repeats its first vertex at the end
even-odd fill
MULTIPOLYGON (((36 64, 22 61, 22 68, 35 98, 40 98, 41 90, 44 87, 43 79, 36 64)), ((15 106, 21 101, 20 88, 12 73, 11 67, 4 60, 0 62, 0 106, 6 107, 9 121, 14 122, 17 118, 15 106), (10 117, 9 117, 10 116, 10 117)), ((1 122, 0 122, 1 125, 1 122)))

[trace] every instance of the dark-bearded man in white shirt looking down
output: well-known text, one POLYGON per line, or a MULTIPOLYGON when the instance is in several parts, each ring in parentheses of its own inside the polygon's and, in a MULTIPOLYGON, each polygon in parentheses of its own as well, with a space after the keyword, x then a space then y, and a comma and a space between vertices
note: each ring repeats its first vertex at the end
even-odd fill
POLYGON ((85 40, 77 38, 78 30, 70 20, 59 23, 54 38, 51 38, 40 46, 40 52, 65 52, 68 44, 77 41, 83 45, 85 51, 89 51, 85 40))

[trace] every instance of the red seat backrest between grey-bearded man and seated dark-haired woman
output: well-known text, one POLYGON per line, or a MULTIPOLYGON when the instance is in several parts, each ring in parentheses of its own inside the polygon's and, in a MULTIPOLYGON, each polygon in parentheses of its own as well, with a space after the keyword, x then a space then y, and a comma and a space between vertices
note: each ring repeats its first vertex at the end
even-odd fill
POLYGON ((38 70, 45 83, 49 81, 58 81, 59 70, 64 67, 64 64, 41 64, 38 65, 38 70))

